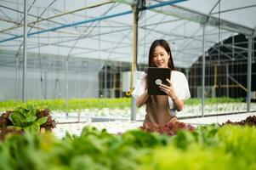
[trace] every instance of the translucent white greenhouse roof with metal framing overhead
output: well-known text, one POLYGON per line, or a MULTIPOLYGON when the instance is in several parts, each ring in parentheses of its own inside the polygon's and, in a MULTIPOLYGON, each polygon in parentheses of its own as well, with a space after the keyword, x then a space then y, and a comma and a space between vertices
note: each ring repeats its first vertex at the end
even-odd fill
MULTIPOLYGON (((27 52, 132 62, 133 0, 28 1, 27 52)), ((22 50, 23 1, 1 0, 0 49, 22 50)), ((155 39, 166 39, 174 65, 189 68, 205 51, 236 35, 255 36, 253 0, 145 1, 139 13, 138 63, 155 39)))

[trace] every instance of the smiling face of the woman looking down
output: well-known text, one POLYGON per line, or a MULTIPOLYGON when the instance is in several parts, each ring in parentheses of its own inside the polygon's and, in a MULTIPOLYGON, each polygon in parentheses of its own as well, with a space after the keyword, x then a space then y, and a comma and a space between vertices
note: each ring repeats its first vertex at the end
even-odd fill
POLYGON ((153 53, 153 62, 156 67, 168 68, 168 60, 170 55, 161 46, 156 46, 154 53, 153 53))

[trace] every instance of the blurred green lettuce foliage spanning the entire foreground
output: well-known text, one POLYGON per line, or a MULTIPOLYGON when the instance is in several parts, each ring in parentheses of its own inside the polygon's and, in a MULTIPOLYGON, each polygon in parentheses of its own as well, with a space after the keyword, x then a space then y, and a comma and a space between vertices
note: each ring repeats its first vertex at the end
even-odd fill
POLYGON ((9 135, 0 169, 248 169, 256 167, 256 129, 216 125, 168 137, 139 130, 110 134, 84 127, 80 136, 9 135))

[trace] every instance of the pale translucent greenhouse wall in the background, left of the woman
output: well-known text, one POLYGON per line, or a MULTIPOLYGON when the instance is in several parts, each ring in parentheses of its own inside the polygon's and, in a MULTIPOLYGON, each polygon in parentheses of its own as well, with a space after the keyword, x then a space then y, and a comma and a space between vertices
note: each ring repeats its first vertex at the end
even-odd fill
MULTIPOLYGON (((0 51, 0 100, 22 99, 23 62, 22 56, 16 58, 15 54, 14 51, 0 51)), ((98 75, 102 63, 70 57, 68 99, 99 97, 98 75)), ((26 99, 65 99, 65 56, 28 54, 26 99)))

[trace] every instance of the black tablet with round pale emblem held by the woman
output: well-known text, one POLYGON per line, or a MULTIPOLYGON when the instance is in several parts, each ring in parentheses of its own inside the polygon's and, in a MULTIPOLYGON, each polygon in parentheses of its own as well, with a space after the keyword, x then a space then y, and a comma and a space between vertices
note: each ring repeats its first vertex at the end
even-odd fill
POLYGON ((171 79, 171 69, 170 68, 158 68, 149 67, 147 71, 147 81, 148 81, 148 94, 150 95, 167 95, 161 91, 159 85, 161 83, 169 85, 167 78, 171 79))

